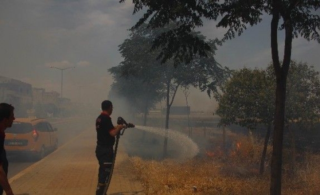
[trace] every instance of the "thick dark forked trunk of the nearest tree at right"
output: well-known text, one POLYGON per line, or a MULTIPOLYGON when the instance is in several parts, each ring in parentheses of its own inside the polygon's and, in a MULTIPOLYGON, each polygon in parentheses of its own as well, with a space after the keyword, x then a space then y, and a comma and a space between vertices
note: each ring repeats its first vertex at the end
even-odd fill
POLYGON ((276 116, 273 134, 273 149, 271 160, 271 177, 270 177, 270 195, 281 195, 281 168, 282 168, 282 146, 283 146, 283 128, 285 114, 285 93, 286 78, 291 60, 292 48, 292 21, 290 18, 291 10, 281 10, 280 7, 286 7, 281 4, 282 1, 272 0, 272 21, 271 21, 271 52, 272 61, 277 78, 276 88, 276 116), (278 24, 281 16, 284 20, 285 40, 284 55, 282 67, 279 61, 278 52, 278 24))

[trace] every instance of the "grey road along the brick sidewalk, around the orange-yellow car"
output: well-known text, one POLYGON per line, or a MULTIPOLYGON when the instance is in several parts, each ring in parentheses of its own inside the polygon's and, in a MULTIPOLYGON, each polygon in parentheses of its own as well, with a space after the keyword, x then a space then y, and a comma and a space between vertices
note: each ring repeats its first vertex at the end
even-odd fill
MULTIPOLYGON (((53 128, 58 128, 58 148, 59 146, 66 144, 69 140, 76 137, 84 130, 90 128, 90 126, 92 127, 92 133, 96 133, 94 129, 94 121, 94 119, 81 119, 77 121, 53 122, 53 128)), ((19 174, 21 171, 36 162, 31 158, 21 156, 8 156, 8 161, 8 178, 19 174)))

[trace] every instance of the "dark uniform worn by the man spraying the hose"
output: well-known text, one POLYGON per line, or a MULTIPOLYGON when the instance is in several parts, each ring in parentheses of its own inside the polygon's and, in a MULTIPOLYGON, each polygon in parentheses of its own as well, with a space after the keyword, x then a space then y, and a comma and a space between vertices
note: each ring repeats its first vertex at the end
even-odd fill
POLYGON ((111 117, 105 113, 101 113, 96 120, 96 156, 99 161, 98 187, 100 184, 104 184, 110 175, 114 155, 113 145, 115 144, 116 138, 111 136, 109 132, 114 128, 111 117))

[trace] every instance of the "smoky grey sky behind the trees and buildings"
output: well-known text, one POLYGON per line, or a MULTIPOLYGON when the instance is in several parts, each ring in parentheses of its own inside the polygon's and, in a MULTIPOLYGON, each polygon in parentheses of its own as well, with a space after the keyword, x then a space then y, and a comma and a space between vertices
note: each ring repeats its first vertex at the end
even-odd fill
MULTIPOLYGON (((122 60, 118 45, 142 14, 132 12, 130 0, 1 0, 0 75, 60 93, 61 72, 50 66, 76 66, 63 71, 63 97, 100 102, 107 98, 112 83, 108 68, 122 60)), ((212 21, 196 30, 208 39, 221 38, 225 32, 212 21)), ((280 58, 282 48, 280 33, 280 58)), ((294 39, 292 59, 320 70, 319 51, 316 41, 294 39)), ((225 42, 218 48, 217 61, 232 69, 266 67, 271 61, 270 18, 225 42)), ((183 99, 180 95, 175 103, 183 104, 183 99)), ((191 107, 213 104, 206 93, 196 90, 189 99, 191 107)))

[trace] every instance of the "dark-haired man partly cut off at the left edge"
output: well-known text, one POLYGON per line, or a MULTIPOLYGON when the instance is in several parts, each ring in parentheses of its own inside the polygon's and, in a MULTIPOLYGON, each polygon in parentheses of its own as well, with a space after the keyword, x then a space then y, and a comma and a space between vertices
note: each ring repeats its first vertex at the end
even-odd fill
POLYGON ((12 189, 8 182, 8 160, 4 150, 5 129, 12 126, 15 116, 14 107, 7 103, 0 103, 0 195, 3 190, 6 195, 13 195, 12 189))

